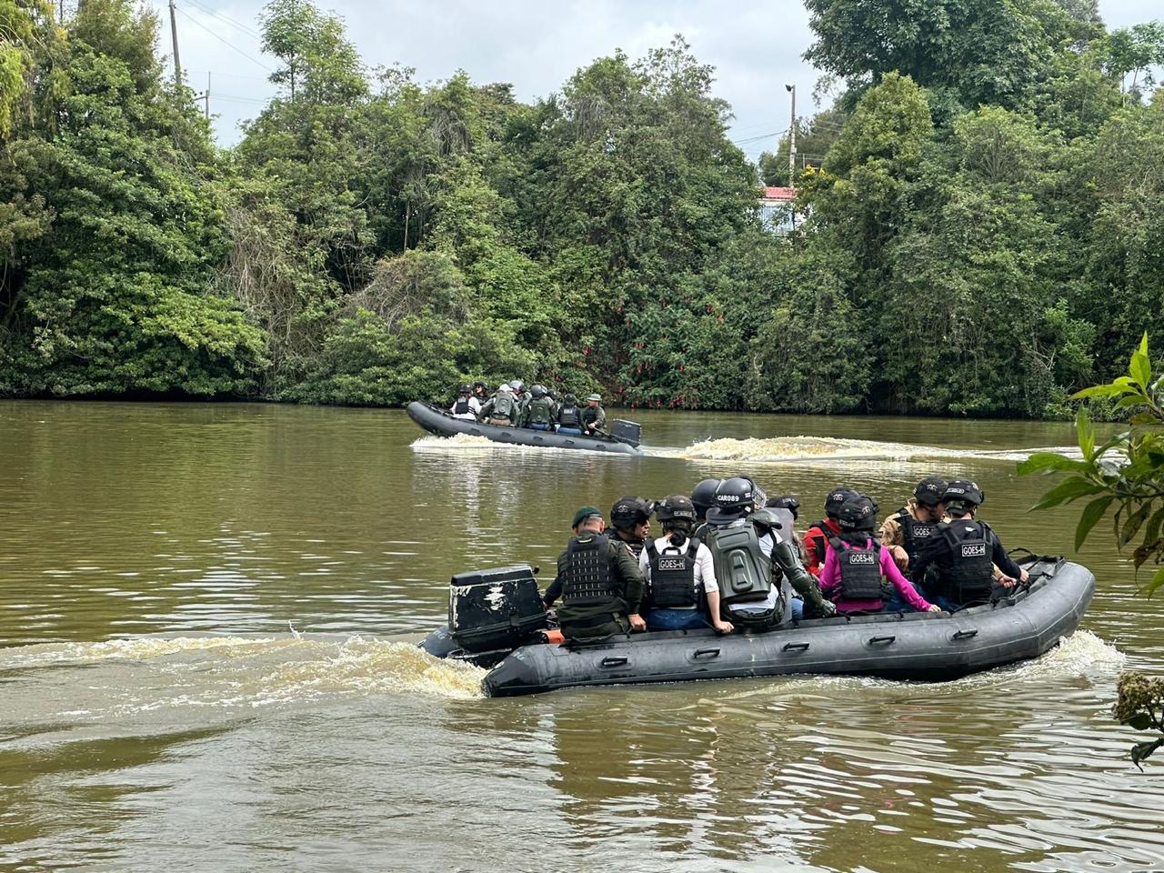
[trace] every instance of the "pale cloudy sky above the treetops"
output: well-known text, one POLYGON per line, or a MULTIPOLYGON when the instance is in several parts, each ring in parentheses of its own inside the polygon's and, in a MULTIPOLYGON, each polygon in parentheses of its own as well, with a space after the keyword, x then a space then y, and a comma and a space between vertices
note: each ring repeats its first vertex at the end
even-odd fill
MULTIPOLYGON (((508 81, 518 99, 559 91, 580 68, 623 49, 638 58, 675 34, 701 63, 716 68, 715 94, 733 112, 730 132, 753 161, 775 150, 788 129, 789 94, 796 114, 811 114, 819 71, 801 59, 812 42, 800 0, 728 3, 724 0, 315 0, 347 24, 369 69, 400 64, 420 83, 463 69, 477 83, 508 81)), ((159 45, 169 57, 169 12, 147 0, 162 20, 159 45)), ((260 49, 264 0, 175 0, 178 52, 186 83, 206 90, 219 143, 239 141, 239 122, 260 113, 275 88, 274 58, 260 49)), ((1161 16, 1159 0, 1099 0, 1109 28, 1161 16)), ((828 105, 828 101, 825 101, 828 105)))

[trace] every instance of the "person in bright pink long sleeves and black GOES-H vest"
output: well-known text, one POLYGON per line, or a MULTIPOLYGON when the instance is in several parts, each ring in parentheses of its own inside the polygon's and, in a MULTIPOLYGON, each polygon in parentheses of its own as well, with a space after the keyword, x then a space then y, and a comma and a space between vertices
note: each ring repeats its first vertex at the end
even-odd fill
POLYGON ((889 583, 901 598, 901 608, 892 611, 941 612, 942 608, 927 601, 901 575, 889 549, 873 538, 876 526, 876 503, 865 495, 850 497, 838 513, 840 534, 831 540, 831 548, 821 570, 821 590, 840 612, 882 612, 886 604, 895 602, 885 589, 889 583))

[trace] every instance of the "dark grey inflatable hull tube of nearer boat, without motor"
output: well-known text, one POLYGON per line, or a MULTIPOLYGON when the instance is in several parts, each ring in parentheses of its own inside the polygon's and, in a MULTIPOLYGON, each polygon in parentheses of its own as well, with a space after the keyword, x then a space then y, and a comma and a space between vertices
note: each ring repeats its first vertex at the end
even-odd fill
MULTIPOLYGON (((1039 559, 1029 588, 956 613, 807 620, 759 634, 712 630, 527 645, 485 676, 505 697, 575 686, 835 674, 942 681, 1037 658, 1071 634, 1095 590, 1078 563, 1039 559)), ((431 650, 430 650, 431 651, 431 650)), ((433 652, 435 654, 435 652, 433 652)))

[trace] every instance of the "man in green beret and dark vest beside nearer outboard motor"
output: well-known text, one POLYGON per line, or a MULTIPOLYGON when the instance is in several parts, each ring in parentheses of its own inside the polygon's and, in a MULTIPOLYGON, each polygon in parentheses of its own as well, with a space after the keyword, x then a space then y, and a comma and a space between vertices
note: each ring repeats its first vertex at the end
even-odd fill
POLYGON ((639 563, 622 542, 608 538, 596 506, 574 513, 574 535, 558 558, 558 577, 542 602, 559 597, 558 622, 566 639, 595 639, 646 630, 639 615, 644 580, 639 563))

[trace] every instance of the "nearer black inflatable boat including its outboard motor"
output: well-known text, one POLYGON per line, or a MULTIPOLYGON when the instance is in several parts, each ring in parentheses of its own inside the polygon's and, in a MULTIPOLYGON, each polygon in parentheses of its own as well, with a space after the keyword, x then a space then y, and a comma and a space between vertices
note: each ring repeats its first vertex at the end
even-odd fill
POLYGON ((956 613, 824 618, 726 637, 710 629, 639 633, 590 645, 537 641, 554 634, 541 630, 532 573, 511 567, 454 577, 449 625, 420 645, 440 658, 492 667, 484 687, 494 697, 794 673, 951 680, 1037 658, 1079 626, 1095 589, 1091 572, 1055 558, 1020 563, 1030 574, 1023 590, 956 613), (474 590, 484 599, 470 596, 474 590), (520 645, 497 646, 506 640, 520 645))

